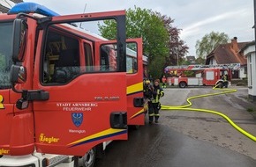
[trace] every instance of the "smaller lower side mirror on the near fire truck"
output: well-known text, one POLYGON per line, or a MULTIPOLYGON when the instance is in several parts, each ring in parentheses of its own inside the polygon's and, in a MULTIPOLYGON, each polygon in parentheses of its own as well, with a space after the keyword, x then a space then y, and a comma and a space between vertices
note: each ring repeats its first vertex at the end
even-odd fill
POLYGON ((24 84, 26 82, 26 68, 19 65, 11 65, 11 83, 24 84))

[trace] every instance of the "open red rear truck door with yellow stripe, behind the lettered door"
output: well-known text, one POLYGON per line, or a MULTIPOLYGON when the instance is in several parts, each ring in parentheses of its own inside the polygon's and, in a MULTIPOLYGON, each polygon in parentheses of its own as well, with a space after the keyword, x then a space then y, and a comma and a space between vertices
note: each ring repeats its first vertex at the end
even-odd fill
POLYGON ((128 125, 144 125, 142 39, 126 40, 128 125))

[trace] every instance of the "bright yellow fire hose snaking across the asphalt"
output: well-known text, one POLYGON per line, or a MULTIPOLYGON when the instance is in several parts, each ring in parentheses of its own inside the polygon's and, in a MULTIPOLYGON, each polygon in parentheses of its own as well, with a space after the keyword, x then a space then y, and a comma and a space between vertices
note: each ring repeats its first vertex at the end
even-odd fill
POLYGON ((237 124, 235 124, 230 118, 219 112, 215 112, 213 110, 207 110, 207 109, 200 109, 200 108, 187 108, 192 105, 191 99, 193 98, 203 98, 203 97, 208 97, 208 96, 215 96, 215 95, 220 95, 220 94, 225 94, 225 93, 232 93, 236 92, 237 90, 232 90, 232 89, 217 89, 216 86, 213 88, 214 90, 222 90, 221 92, 216 92, 216 93, 211 93, 211 94, 204 94, 204 95, 199 95, 199 96, 193 96, 191 98, 187 98, 188 105, 179 105, 179 106, 167 106, 167 105, 162 105, 162 110, 182 110, 182 111, 191 111, 191 112, 203 112, 203 113, 214 113, 216 115, 222 116, 225 120, 227 120, 232 127, 235 127, 237 131, 239 131, 242 134, 245 134, 248 138, 252 139, 252 141, 256 142, 256 137, 252 134, 249 134, 246 132, 243 128, 238 127, 237 124))

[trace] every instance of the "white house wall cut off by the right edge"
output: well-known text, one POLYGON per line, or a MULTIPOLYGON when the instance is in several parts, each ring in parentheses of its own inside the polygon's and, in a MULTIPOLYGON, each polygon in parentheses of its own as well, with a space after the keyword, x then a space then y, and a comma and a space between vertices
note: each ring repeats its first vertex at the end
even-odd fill
POLYGON ((256 101, 256 54, 255 54, 255 41, 245 45, 240 51, 247 57, 248 68, 248 95, 252 101, 256 101))

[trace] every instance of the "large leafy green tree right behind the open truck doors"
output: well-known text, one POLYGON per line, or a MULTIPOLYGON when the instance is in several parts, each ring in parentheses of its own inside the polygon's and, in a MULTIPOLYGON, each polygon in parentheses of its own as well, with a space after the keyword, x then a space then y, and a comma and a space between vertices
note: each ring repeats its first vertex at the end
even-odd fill
MULTIPOLYGON (((169 29, 160 13, 147 9, 126 11, 126 38, 142 38, 143 54, 148 56, 148 73, 154 78, 162 76, 162 71, 169 57, 169 29)), ((102 36, 114 39, 115 23, 105 21, 98 25, 102 36)))

